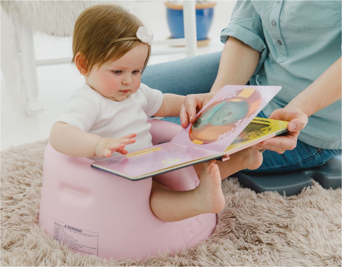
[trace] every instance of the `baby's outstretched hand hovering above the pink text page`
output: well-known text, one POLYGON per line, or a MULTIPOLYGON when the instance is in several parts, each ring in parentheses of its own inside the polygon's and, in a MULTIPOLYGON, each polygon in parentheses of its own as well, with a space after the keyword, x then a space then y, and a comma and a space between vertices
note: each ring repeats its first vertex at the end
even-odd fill
POLYGON ((135 142, 136 133, 121 136, 119 139, 101 138, 95 147, 95 155, 98 157, 109 158, 114 152, 119 152, 123 155, 127 154, 124 147, 135 142))

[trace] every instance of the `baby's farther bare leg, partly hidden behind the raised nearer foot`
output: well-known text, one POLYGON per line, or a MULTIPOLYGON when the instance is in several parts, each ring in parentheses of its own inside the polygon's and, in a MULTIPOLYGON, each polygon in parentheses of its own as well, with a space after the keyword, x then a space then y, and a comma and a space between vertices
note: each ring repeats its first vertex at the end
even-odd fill
MULTIPOLYGON (((219 165, 221 179, 243 169, 257 169, 262 164, 262 153, 252 147, 236 152, 230 156, 227 161, 216 161, 219 165)), ((201 173, 204 163, 194 165, 197 175, 201 173)), ((199 177, 199 176, 198 176, 199 177)), ((200 182, 201 184, 201 182, 200 182)))

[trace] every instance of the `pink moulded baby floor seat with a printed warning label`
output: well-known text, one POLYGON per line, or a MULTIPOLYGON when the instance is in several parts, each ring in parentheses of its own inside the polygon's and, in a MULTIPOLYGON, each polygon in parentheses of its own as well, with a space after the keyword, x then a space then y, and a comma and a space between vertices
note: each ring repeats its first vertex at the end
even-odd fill
MULTIPOLYGON (((170 141, 177 124, 149 119, 153 144, 170 141)), ((104 258, 145 259, 158 250, 175 253, 209 237, 216 214, 180 222, 164 222, 151 211, 152 178, 130 181, 91 168, 87 158, 69 157, 50 144, 44 154, 39 224, 75 252, 104 258)), ((158 180, 174 190, 199 184, 192 166, 174 170, 158 180)))

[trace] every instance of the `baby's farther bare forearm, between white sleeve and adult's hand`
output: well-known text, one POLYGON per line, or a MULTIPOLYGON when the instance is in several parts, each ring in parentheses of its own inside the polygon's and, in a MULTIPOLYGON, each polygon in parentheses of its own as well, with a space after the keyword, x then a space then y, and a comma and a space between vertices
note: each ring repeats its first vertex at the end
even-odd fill
POLYGON ((163 103, 154 116, 157 117, 178 117, 185 96, 178 94, 163 94, 163 103))

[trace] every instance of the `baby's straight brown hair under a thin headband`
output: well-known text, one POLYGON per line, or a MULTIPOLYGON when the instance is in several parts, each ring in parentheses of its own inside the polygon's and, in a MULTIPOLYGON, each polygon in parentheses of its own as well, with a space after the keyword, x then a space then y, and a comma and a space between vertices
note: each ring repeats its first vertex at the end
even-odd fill
MULTIPOLYGON (((94 5, 84 10, 76 20, 73 34, 73 60, 78 52, 82 53, 87 61, 87 72, 95 65, 100 67, 108 60, 117 60, 135 46, 140 40, 121 40, 121 38, 136 38, 139 27, 144 26, 142 21, 119 5, 94 5)), ((147 66, 151 54, 148 45, 148 54, 144 63, 147 66)))

